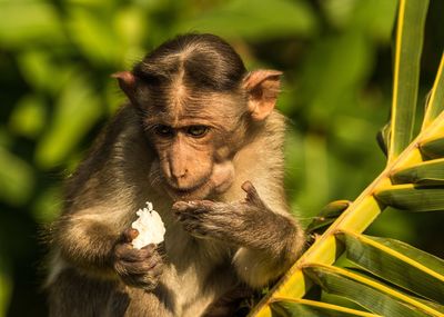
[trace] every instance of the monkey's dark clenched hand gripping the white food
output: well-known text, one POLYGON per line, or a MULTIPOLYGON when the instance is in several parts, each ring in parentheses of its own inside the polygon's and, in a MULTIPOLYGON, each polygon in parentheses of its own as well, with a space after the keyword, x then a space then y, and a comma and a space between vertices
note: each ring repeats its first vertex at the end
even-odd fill
POLYGON ((162 257, 153 244, 135 249, 131 241, 138 235, 139 231, 132 228, 122 234, 114 247, 114 270, 128 286, 152 290, 163 271, 162 257))

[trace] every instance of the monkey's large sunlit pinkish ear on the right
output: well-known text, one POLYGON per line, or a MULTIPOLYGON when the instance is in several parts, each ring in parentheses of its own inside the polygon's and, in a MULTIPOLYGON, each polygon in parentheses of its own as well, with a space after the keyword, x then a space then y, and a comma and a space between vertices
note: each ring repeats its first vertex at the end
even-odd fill
POLYGON ((251 118, 256 121, 264 120, 276 105, 281 87, 279 70, 255 70, 243 80, 243 87, 249 93, 249 110, 251 118))

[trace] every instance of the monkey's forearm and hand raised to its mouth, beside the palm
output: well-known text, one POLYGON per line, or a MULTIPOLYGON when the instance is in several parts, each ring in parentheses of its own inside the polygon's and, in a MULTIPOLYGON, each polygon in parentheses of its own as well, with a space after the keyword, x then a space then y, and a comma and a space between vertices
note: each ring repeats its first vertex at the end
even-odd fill
POLYGON ((239 276, 250 286, 261 287, 296 260, 304 237, 299 224, 290 216, 273 212, 251 182, 242 188, 246 191, 242 202, 180 201, 173 209, 193 236, 238 246, 233 264, 239 276))

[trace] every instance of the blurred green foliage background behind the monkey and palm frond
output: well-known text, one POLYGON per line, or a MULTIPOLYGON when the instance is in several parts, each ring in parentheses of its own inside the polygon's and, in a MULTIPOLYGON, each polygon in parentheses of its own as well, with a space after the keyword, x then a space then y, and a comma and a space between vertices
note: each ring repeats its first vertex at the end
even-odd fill
MULTIPOLYGON (((395 0, 0 0, 0 317, 46 316, 41 230, 61 182, 124 100, 110 75, 176 33, 225 38, 249 69, 285 72, 286 188, 310 222, 384 168, 395 0)), ((444 47, 431 0, 418 115, 444 47)), ((441 212, 442 214, 442 212, 441 212)), ((389 210, 367 232, 444 256, 444 217, 389 210)))

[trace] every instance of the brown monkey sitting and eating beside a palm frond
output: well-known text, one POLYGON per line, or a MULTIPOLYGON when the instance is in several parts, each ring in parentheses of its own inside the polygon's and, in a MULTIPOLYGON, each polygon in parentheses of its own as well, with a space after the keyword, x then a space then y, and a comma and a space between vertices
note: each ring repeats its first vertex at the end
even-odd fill
POLYGON ((248 71, 209 33, 113 75, 128 101, 67 179, 49 232, 50 316, 231 316, 235 294, 292 266, 305 237, 283 187, 281 76, 248 71), (164 241, 135 249, 148 200, 164 241))

